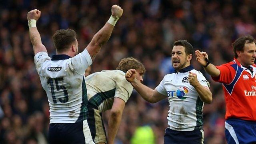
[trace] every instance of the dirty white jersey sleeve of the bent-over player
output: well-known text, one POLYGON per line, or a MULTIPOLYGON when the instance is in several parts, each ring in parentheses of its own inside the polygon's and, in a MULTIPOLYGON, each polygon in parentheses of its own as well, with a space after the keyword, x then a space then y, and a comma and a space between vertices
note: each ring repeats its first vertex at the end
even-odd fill
POLYGON ((126 103, 132 94, 133 87, 124 76, 122 80, 116 82, 116 92, 114 97, 121 98, 126 103))

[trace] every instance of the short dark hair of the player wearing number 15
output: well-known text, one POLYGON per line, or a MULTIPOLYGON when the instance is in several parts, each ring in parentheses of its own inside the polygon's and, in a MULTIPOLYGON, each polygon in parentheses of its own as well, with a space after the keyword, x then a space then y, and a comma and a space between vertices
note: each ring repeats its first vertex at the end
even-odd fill
POLYGON ((76 32, 71 29, 57 30, 52 36, 54 47, 58 52, 63 52, 76 41, 76 32))

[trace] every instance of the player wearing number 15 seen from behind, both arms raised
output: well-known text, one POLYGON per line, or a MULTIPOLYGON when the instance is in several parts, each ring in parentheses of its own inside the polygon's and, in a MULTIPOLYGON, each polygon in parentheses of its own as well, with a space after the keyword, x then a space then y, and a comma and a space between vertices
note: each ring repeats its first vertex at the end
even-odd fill
POLYGON ((84 72, 100 51, 122 16, 122 8, 112 6, 112 15, 103 28, 95 34, 83 52, 78 54, 74 30, 57 30, 53 36, 56 55, 50 58, 41 42, 36 21, 41 12, 28 12, 30 40, 34 48, 34 62, 42 87, 50 105, 49 143, 94 143, 87 124, 88 109, 84 72))

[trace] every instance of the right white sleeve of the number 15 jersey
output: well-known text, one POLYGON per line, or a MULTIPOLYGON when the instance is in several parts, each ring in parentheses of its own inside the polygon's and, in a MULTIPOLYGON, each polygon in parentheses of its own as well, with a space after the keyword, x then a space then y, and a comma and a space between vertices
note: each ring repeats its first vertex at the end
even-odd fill
POLYGON ((86 68, 91 64, 92 58, 86 49, 68 60, 69 68, 80 75, 84 75, 86 68))

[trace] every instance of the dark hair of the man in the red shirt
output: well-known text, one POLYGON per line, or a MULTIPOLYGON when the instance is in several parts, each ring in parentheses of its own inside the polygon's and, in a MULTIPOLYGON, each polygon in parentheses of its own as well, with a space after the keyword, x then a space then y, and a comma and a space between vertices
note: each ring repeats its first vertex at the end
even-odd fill
POLYGON ((234 51, 235 58, 238 57, 236 51, 243 52, 244 44, 251 44, 253 42, 255 43, 255 39, 250 35, 241 36, 240 38, 236 39, 236 41, 233 43, 233 51, 234 51))

